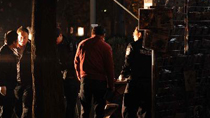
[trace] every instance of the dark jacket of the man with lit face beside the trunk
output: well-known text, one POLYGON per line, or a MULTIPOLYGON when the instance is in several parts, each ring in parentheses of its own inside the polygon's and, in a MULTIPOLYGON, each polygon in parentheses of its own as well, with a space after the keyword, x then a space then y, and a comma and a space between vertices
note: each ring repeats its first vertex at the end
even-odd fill
POLYGON ((26 44, 23 56, 20 59, 20 79, 22 85, 32 85, 30 42, 26 44))

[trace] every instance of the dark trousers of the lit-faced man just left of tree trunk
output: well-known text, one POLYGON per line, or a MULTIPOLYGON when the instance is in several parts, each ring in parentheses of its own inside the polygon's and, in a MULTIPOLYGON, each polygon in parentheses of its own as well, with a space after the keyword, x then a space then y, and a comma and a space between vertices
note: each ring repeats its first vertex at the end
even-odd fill
POLYGON ((15 97, 17 99, 15 112, 19 118, 32 117, 32 87, 18 85, 15 88, 15 97))

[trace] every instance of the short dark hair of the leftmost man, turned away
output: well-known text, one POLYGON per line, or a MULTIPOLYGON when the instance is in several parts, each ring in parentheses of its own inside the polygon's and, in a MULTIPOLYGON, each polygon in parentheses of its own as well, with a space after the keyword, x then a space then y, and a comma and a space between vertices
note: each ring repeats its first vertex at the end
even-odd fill
POLYGON ((18 34, 14 30, 10 30, 5 34, 5 43, 11 45, 13 42, 17 41, 18 34))

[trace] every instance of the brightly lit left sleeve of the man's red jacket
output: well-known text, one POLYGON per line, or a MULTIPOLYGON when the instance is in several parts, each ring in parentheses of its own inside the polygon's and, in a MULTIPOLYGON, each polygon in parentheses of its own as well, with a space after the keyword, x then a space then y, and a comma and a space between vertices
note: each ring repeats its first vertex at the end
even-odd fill
POLYGON ((80 45, 77 48, 75 57, 74 57, 74 68, 77 74, 77 78, 78 80, 80 80, 80 58, 79 58, 79 54, 80 54, 80 45))

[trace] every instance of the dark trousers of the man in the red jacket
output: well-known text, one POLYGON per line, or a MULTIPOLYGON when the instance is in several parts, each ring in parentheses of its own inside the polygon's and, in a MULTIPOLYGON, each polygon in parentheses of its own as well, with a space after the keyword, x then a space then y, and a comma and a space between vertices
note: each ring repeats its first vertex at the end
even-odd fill
POLYGON ((82 78, 80 82, 81 118, 89 118, 92 98, 94 118, 103 118, 106 105, 106 100, 104 99, 107 88, 106 82, 91 78, 82 78))

